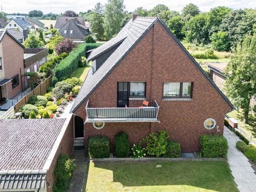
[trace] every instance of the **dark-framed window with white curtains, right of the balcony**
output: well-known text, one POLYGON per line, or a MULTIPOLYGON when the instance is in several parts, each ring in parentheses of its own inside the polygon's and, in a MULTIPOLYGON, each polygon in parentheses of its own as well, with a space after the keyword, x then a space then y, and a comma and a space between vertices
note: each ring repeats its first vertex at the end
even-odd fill
POLYGON ((192 82, 165 82, 163 83, 163 97, 191 98, 192 82))

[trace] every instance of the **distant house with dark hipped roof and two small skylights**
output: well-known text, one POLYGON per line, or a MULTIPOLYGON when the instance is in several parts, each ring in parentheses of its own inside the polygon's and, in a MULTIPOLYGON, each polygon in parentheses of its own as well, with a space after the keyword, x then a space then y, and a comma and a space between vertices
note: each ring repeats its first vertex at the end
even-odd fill
POLYGON ((89 29, 77 19, 70 19, 59 29, 60 35, 65 39, 72 39, 77 43, 84 43, 85 36, 89 35, 89 29))

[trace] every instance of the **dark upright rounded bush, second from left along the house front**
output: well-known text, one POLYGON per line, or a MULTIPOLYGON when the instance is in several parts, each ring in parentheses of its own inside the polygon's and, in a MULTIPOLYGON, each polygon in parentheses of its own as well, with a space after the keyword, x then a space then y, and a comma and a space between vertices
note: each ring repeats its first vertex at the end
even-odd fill
POLYGON ((115 156, 128 157, 130 145, 128 135, 125 132, 119 132, 115 135, 115 156))

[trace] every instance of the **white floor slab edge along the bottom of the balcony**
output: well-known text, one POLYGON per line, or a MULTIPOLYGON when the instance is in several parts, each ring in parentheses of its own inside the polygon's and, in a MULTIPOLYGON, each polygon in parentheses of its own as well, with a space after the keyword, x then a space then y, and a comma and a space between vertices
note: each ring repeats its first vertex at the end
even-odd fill
POLYGON ((93 122, 160 122, 157 119, 149 119, 149 118, 144 118, 144 119, 138 119, 138 118, 108 118, 108 119, 102 119, 102 118, 97 118, 97 119, 86 119, 85 122, 87 123, 93 123, 93 122))

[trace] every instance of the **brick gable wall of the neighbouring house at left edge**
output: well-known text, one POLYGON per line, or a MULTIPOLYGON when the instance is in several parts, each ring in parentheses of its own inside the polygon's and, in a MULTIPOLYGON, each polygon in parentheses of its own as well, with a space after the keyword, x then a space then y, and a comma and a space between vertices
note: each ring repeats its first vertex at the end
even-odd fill
MULTIPOLYGON (((2 50, 3 50, 3 65, 5 78, 12 78, 13 76, 19 74, 19 85, 12 89, 12 83, 7 84, 7 94, 8 98, 11 99, 22 92, 22 75, 24 74, 24 53, 23 48, 14 41, 9 35, 5 35, 2 40, 2 50), (20 72, 21 69, 21 72, 20 72)), ((24 80, 23 80, 24 86, 24 80)))

